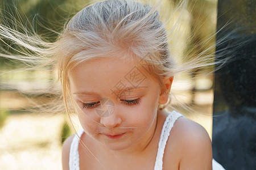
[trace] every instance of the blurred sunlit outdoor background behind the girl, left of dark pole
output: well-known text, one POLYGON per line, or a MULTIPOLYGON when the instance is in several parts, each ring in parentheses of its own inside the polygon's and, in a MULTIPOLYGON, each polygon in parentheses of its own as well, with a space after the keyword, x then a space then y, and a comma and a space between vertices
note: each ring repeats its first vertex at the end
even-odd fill
MULTIPOLYGON (((23 25, 53 42, 64 24, 90 3, 84 0, 1 0, 0 20, 20 32, 22 27, 16 25, 23 25)), ((164 3, 170 9, 175 4, 164 3)), ((178 62, 201 53, 214 54, 216 21, 217 0, 189 1, 181 19, 182 36, 172 48, 179 49, 175 52, 178 62)), ((15 44, 11 46, 19 48, 15 44)), ((0 47, 7 49, 2 41, 0 47)), ((24 63, 0 57, 0 169, 61 169, 61 143, 73 133, 67 114, 38 113, 31 109, 33 104, 47 103, 55 97, 47 90, 56 82, 56 73, 49 68, 24 68, 24 63)), ((172 105, 179 108, 182 103, 179 110, 203 125, 210 137, 213 102, 213 75, 210 73, 213 69, 204 67, 180 73, 172 86, 172 94, 175 94, 172 105)), ((72 121, 75 129, 79 129, 75 115, 72 121)))

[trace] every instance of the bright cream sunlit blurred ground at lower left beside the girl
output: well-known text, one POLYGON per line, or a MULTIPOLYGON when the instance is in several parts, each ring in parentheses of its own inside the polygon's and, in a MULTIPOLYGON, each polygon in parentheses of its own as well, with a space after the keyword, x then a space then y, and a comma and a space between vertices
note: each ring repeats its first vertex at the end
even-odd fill
POLYGON ((12 114, 0 130, 0 169, 61 169, 64 116, 12 114))

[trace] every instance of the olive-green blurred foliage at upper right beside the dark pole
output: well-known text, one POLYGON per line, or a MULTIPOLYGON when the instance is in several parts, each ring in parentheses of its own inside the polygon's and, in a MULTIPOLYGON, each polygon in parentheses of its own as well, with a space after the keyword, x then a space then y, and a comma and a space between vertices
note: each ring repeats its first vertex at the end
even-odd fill
POLYGON ((191 37, 185 60, 190 60, 201 53, 214 54, 217 22, 217 1, 191 0, 188 10, 191 11, 191 37), (188 57, 188 58, 186 58, 188 57))

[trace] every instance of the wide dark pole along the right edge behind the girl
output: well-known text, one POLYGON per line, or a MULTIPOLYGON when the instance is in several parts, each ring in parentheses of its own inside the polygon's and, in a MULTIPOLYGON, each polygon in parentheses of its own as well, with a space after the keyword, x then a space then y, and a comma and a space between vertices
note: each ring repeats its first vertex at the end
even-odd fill
POLYGON ((218 1, 213 158, 226 169, 256 168, 256 1, 218 1), (224 26, 226 23, 228 25, 224 26), (228 35, 228 38, 225 38, 228 35))

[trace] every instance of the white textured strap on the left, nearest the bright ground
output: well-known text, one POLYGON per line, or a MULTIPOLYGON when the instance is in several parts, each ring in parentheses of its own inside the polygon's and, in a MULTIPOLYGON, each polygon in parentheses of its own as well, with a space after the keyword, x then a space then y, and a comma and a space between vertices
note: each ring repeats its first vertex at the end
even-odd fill
POLYGON ((82 133, 84 133, 84 130, 81 129, 77 132, 77 135, 74 136, 70 151, 69 151, 69 169, 70 170, 79 170, 79 141, 82 136, 82 133))

